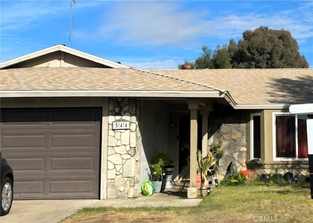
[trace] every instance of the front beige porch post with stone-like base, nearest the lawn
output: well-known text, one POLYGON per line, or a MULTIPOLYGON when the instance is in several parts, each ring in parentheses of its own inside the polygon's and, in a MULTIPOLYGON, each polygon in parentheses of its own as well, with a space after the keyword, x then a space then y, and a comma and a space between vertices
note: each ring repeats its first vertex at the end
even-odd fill
POLYGON ((188 104, 190 110, 190 186, 187 189, 187 198, 197 198, 197 147, 198 147, 198 110, 199 104, 188 104), (196 193, 195 193, 196 192, 196 193))

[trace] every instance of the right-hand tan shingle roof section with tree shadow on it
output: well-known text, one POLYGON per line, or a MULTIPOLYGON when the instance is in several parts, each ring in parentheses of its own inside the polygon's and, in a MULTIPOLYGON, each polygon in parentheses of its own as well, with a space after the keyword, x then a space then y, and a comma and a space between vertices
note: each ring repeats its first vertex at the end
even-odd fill
POLYGON ((236 104, 313 103, 313 69, 153 70, 213 89, 227 90, 236 104))

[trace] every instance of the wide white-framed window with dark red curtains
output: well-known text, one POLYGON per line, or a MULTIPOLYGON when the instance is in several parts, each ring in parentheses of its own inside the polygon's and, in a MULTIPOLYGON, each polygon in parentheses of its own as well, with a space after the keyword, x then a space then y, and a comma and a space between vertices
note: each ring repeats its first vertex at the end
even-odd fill
POLYGON ((273 159, 308 160, 306 115, 273 113, 273 159))

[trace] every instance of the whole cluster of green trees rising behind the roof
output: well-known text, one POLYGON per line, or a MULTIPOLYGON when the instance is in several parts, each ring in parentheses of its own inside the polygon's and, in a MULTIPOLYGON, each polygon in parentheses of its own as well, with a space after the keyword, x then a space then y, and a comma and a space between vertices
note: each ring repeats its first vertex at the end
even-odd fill
POLYGON ((254 31, 246 30, 238 44, 230 39, 228 45, 217 45, 213 53, 203 45, 200 56, 190 64, 195 69, 309 67, 289 31, 265 26, 254 31))

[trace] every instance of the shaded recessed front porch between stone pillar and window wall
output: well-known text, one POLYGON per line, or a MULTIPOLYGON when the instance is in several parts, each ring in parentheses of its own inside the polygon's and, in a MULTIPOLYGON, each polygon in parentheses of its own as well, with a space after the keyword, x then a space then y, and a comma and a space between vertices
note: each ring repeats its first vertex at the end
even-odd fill
MULTIPOLYGON (((225 157, 220 160, 223 179, 228 164, 233 161, 239 170, 246 163, 246 113, 234 111, 219 99, 142 100, 139 128, 142 137, 141 182, 149 178, 149 163, 156 151, 168 152, 175 165, 174 184, 190 156, 190 177, 187 188, 196 187, 197 151, 206 156, 210 148, 223 140, 225 157), (214 111, 214 107, 216 111, 214 111), (225 116, 224 116, 225 115, 225 116), (237 120, 235 120, 237 117, 237 120), (239 120, 241 119, 241 120, 239 120), (242 124, 241 124, 242 123, 242 124)), ((226 103, 224 103, 226 104, 226 103)), ((207 185, 207 182, 205 182, 207 185)))

